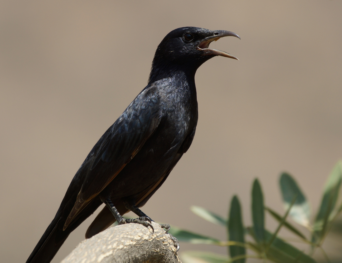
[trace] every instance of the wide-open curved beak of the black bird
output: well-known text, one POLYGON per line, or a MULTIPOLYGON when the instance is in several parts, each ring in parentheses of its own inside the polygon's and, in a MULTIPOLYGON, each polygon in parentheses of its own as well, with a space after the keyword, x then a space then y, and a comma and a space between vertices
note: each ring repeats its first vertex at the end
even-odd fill
POLYGON ((231 31, 225 31, 225 30, 218 30, 215 31, 214 36, 205 38, 199 45, 197 46, 198 50, 203 51, 203 55, 214 55, 214 56, 222 56, 222 57, 230 57, 239 60, 237 57, 234 57, 231 54, 228 54, 224 51, 217 50, 217 49, 209 49, 209 44, 212 41, 217 41, 222 37, 228 37, 233 36, 241 39, 237 34, 231 32, 231 31))

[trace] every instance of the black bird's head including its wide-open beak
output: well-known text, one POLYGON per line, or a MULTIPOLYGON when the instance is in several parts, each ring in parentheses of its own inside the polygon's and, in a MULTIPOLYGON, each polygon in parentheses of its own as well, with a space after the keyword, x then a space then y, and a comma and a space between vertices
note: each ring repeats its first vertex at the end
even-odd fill
POLYGON ((212 41, 227 36, 240 38, 237 34, 225 30, 208 30, 199 27, 181 27, 172 30, 158 45, 150 79, 157 71, 164 71, 164 68, 187 68, 195 73, 200 65, 214 56, 238 59, 224 51, 209 48, 212 41))

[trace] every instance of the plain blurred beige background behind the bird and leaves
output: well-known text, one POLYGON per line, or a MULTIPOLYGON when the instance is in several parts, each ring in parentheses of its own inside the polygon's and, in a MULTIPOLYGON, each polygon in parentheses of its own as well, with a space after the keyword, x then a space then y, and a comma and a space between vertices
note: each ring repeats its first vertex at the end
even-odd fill
MULTIPOLYGON (((145 87, 157 45, 182 26, 236 32, 241 41, 211 45, 240 60, 215 57, 197 71, 194 142, 143 211, 224 239, 223 229, 189 206, 225 216, 238 194, 249 224, 258 177, 266 204, 282 212, 283 170, 316 211, 342 157, 341 11, 337 0, 2 0, 1 261, 26 261, 88 152, 145 87)), ((84 238, 93 218, 69 236, 54 263, 84 238)), ((267 225, 275 229, 270 218, 267 225)), ((196 249, 226 252, 190 244, 180 252, 196 249)))

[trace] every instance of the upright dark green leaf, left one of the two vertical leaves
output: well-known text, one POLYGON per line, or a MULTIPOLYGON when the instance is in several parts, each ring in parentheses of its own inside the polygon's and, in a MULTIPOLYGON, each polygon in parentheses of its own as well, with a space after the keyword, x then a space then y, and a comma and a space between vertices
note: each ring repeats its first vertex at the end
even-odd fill
MULTIPOLYGON (((229 222, 227 224, 229 241, 238 241, 245 243, 245 230, 242 224, 241 207, 237 196, 235 195, 232 199, 231 209, 229 211, 229 222)), ((246 249, 244 247, 229 246, 228 248, 231 257, 239 255, 245 255, 246 249)), ((246 259, 239 259, 235 262, 245 263, 246 259)))

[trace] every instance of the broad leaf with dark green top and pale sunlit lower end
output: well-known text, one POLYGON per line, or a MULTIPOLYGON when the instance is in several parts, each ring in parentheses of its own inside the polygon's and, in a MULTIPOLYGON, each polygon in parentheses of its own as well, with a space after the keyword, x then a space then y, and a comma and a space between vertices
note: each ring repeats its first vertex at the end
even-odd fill
POLYGON ((285 210, 289 208, 294 196, 297 196, 297 199, 290 210, 290 217, 298 224, 309 227, 311 214, 310 205, 296 181, 289 174, 284 172, 280 176, 279 183, 285 210))

